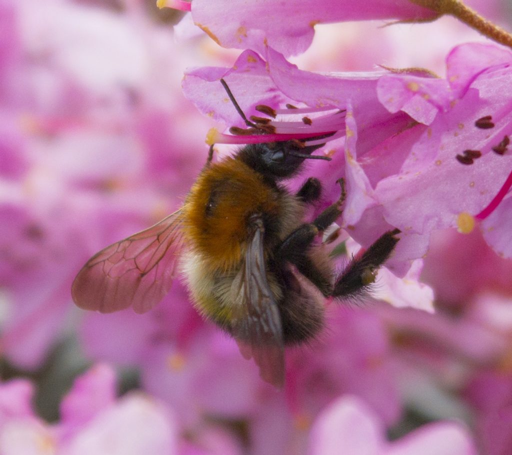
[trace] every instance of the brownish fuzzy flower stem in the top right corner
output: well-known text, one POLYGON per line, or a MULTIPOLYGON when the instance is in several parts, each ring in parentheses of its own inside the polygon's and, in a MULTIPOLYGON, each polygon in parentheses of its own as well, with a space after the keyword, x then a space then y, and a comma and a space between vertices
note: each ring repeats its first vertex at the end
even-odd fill
POLYGON ((439 14, 450 14, 457 17, 461 22, 479 31, 482 35, 512 48, 512 35, 510 33, 485 19, 460 0, 410 0, 410 2, 434 10, 439 14))

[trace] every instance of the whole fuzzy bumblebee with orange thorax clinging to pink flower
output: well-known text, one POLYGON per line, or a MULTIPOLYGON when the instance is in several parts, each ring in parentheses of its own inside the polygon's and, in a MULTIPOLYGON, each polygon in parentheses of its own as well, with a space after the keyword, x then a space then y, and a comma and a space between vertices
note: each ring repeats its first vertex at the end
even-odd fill
POLYGON ((73 282, 74 302, 102 313, 129 306, 144 313, 182 274, 198 311, 254 358, 265 381, 282 386, 284 347, 314 339, 325 298, 364 291, 398 241, 398 230, 386 232, 335 273, 318 239, 342 214, 343 180, 339 199, 311 222, 303 221, 305 210, 321 197, 321 182, 308 178, 295 193, 282 183, 323 145, 248 144, 215 163, 210 147, 181 209, 93 256, 73 282))

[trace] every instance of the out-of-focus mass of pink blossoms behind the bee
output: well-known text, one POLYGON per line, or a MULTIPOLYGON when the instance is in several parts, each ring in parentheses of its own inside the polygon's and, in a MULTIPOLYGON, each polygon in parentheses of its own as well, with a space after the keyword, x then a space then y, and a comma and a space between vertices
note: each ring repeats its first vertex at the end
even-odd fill
MULTIPOLYGON (((512 30, 507 0, 466 3, 512 30)), ((435 314, 333 308, 322 342, 289 353, 282 392, 201 320, 179 282, 144 315, 74 306, 84 262, 172 213, 206 158, 215 125, 183 97, 181 78, 187 67, 231 66, 239 52, 183 16, 153 0, 0 0, 4 383, 30 381, 32 418, 57 428, 75 379, 100 365, 107 379, 115 372, 105 381, 117 397, 141 390, 173 416, 180 453, 307 453, 315 419, 346 394, 390 440, 449 419, 482 453, 512 453, 512 261, 479 232, 434 235, 422 281, 435 314)), ((311 71, 385 65, 442 76, 454 45, 485 40, 450 17, 383 25, 317 25, 311 48, 291 60, 311 71)), ((15 396, 0 393, 0 447, 15 396)))

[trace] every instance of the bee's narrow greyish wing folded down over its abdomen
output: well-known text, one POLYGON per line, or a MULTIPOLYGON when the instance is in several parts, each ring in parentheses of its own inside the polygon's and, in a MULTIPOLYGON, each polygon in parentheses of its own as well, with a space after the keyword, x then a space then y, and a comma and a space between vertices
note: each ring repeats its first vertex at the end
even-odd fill
POLYGON ((264 226, 254 221, 245 265, 233 281, 232 333, 246 359, 254 358, 266 382, 284 384, 283 329, 278 305, 267 280, 263 255, 264 226))

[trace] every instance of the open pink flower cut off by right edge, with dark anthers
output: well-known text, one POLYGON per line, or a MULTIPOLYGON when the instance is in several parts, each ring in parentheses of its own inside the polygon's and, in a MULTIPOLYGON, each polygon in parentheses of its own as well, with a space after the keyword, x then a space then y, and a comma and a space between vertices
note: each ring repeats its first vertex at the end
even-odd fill
MULTIPOLYGON (((387 100, 400 98, 400 109, 429 124, 415 139, 399 172, 376 185, 383 216, 390 223, 420 236, 427 232, 430 236, 432 230, 447 226, 468 232, 475 219, 485 219, 500 207, 512 184, 508 177, 512 158, 505 144, 512 106, 503 96, 510 87, 511 63, 510 51, 468 44, 455 48, 447 57, 450 88, 438 80, 441 92, 436 92, 436 81, 430 79, 427 81, 432 85, 402 75, 379 80, 379 99, 391 112, 397 107, 387 100), (391 81, 403 85, 395 90, 398 87, 390 85, 391 81), (435 93, 443 95, 435 99, 435 93)), ((389 147, 400 148, 399 141, 389 147)), ((505 210, 503 206, 485 220, 482 229, 487 236, 493 231, 489 228, 495 226, 497 232, 488 241, 500 254, 510 256, 512 251, 503 240, 507 236, 502 229, 507 222, 505 210)))

